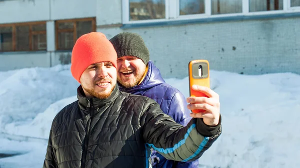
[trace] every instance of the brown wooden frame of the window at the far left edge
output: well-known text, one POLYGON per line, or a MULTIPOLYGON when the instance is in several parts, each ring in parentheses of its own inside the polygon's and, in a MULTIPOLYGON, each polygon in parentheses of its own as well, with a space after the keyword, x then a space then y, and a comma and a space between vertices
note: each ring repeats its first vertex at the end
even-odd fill
MULTIPOLYGON (((46 21, 34 21, 34 22, 20 22, 20 23, 6 23, 0 24, 0 27, 11 27, 12 29, 12 50, 0 51, 0 52, 22 52, 22 51, 46 51, 47 49, 34 50, 32 47, 32 35, 45 34, 47 38, 47 27, 46 30, 34 31, 32 25, 44 24, 46 27, 46 21), (28 50, 16 50, 16 26, 29 26, 29 49, 28 50)), ((47 45, 47 40, 46 40, 47 45)))

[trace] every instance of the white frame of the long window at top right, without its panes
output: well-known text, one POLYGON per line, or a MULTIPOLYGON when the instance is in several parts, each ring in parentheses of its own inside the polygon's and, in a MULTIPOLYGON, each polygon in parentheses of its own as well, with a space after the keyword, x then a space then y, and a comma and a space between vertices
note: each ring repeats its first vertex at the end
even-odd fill
POLYGON ((135 23, 151 23, 151 22, 165 22, 174 20, 189 20, 199 18, 221 18, 228 16, 254 16, 265 14, 283 14, 283 13, 297 13, 300 12, 300 6, 290 6, 290 0, 282 0, 282 10, 267 10, 267 11, 253 11, 249 12, 249 0, 242 0, 242 12, 240 13, 226 13, 226 14, 211 14, 211 0, 204 0, 205 13, 201 14, 187 14, 179 15, 179 0, 165 0, 165 18, 149 19, 149 20, 129 20, 129 0, 122 0, 122 22, 123 24, 135 23))

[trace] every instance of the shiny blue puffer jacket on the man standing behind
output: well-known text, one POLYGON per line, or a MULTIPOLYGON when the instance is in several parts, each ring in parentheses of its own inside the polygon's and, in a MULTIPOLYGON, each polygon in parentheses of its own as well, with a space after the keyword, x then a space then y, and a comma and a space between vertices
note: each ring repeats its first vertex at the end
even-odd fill
MULTIPOLYGON (((168 85, 162 79, 159 69, 153 62, 148 62, 148 71, 142 82, 132 88, 123 88, 119 85, 119 89, 123 92, 142 95, 155 100, 160 109, 171 116, 176 123, 185 126, 191 119, 190 110, 187 109, 187 103, 183 94, 176 88, 168 85)), ((194 162, 175 162, 166 160, 160 154, 154 151, 153 155, 159 158, 159 163, 153 163, 153 168, 197 168, 198 161, 194 162)))

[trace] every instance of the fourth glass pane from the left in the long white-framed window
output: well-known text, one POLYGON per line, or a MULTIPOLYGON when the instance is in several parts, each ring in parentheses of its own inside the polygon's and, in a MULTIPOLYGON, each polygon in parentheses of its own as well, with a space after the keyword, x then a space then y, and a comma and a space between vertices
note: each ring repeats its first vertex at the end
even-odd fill
POLYGON ((249 0, 249 11, 283 10, 283 0, 249 0))

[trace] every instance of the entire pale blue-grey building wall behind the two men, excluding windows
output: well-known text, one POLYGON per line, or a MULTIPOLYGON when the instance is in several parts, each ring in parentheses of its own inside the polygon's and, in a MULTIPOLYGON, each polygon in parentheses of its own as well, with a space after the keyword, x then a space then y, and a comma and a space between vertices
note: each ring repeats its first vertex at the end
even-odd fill
POLYGON ((0 53, 0 70, 69 63, 70 51, 55 51, 54 20, 95 16, 96 30, 107 38, 122 31, 140 34, 164 78, 186 77, 193 59, 207 59, 220 71, 300 74, 300 17, 123 28, 120 1, 0 1, 0 15, 7 15, 0 23, 47 21, 47 52, 0 53))

